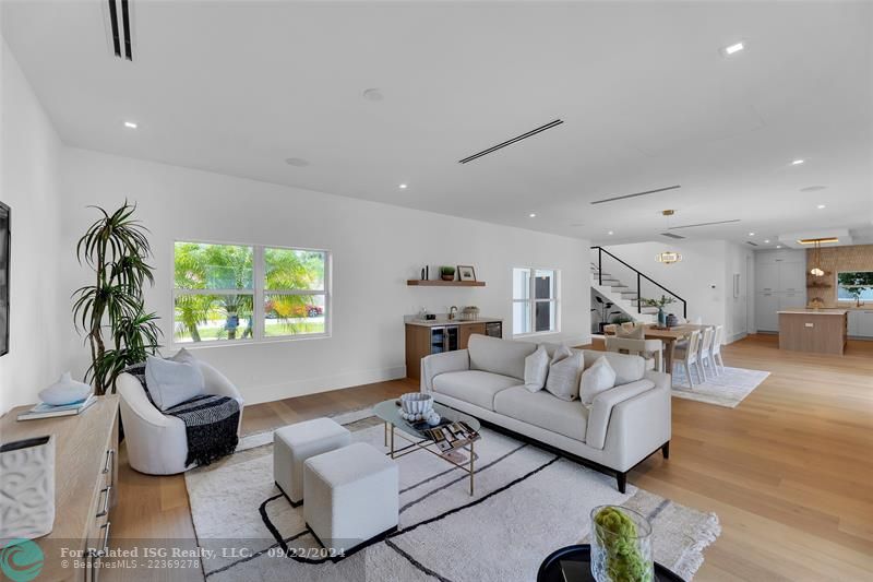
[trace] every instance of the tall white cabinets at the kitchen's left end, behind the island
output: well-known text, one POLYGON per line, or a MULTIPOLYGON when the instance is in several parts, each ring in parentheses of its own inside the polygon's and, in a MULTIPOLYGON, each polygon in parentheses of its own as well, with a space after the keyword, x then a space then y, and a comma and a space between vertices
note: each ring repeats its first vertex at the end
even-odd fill
POLYGON ((768 250, 755 253, 755 326, 779 331, 778 311, 806 306, 806 253, 768 250))

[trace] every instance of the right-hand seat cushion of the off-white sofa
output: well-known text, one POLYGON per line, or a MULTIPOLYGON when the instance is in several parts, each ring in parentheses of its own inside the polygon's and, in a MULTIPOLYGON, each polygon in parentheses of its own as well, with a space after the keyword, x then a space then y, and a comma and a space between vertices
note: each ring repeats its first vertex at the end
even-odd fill
POLYGON ((581 402, 565 402, 540 390, 524 387, 503 390, 494 396, 494 412, 585 442, 588 409, 581 402))

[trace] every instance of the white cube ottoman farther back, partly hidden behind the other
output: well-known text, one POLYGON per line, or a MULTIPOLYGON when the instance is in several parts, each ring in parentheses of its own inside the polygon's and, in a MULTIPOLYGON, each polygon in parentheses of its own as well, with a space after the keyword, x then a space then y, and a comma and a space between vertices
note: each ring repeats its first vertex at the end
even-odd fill
POLYGON ((315 418, 273 432, 273 478, 294 507, 303 501, 303 461, 351 443, 351 432, 315 418))

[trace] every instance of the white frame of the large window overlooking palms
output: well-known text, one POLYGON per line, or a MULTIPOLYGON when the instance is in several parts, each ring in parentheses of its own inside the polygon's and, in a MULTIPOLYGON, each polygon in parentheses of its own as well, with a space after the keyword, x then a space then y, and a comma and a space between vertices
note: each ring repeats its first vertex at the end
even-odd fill
POLYGON ((192 245, 216 245, 227 247, 250 247, 252 249, 252 288, 251 289, 179 289, 176 288, 176 278, 172 277, 171 287, 171 301, 170 306, 172 314, 170 317, 170 347, 186 348, 186 349, 203 349, 207 347, 231 346, 231 345, 252 345, 252 344, 268 344, 276 342, 298 342, 301 340, 323 340, 331 337, 333 334, 333 293, 331 290, 331 283, 333 281, 333 253, 327 249, 312 249, 304 247, 288 247, 286 245, 254 245, 248 242, 229 242, 229 241, 215 241, 202 239, 181 239, 177 238, 172 241, 172 249, 170 252, 170 272, 175 273, 176 270, 176 245, 179 242, 188 242, 192 245), (291 251, 308 251, 324 253, 324 289, 310 290, 310 289, 265 289, 266 278, 266 263, 264 262, 264 249, 278 249, 291 251), (242 292, 242 293, 240 293, 242 292), (252 295, 252 336, 247 338, 236 340, 211 340, 208 342, 177 342, 176 341, 176 298, 180 295, 252 295), (323 296, 324 297, 324 332, 321 333, 301 333, 289 335, 265 335, 266 313, 264 310, 264 297, 266 295, 308 295, 308 296, 323 296))

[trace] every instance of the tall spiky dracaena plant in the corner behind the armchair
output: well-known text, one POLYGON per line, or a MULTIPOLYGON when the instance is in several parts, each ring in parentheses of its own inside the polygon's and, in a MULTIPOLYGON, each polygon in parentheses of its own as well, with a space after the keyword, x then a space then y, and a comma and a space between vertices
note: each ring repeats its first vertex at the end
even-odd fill
POLYGON ((160 347, 158 317, 145 311, 143 285, 154 284, 145 228, 133 217, 136 205, 124 204, 92 224, 76 245, 80 264, 93 271, 93 284, 73 293, 73 319, 91 347, 85 380, 97 395, 115 392, 125 367, 143 361, 160 347))

